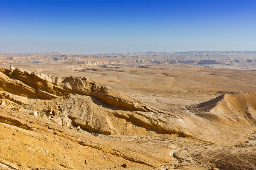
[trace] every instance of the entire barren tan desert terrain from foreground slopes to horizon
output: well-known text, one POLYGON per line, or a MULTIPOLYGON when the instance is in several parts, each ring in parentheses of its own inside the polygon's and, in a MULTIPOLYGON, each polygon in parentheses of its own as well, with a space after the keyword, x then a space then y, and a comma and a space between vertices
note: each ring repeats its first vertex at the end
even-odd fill
POLYGON ((0 54, 4 170, 255 170, 256 52, 0 54))

